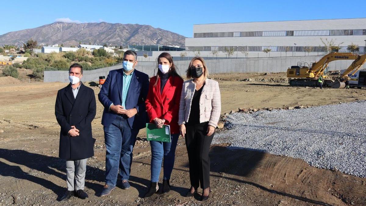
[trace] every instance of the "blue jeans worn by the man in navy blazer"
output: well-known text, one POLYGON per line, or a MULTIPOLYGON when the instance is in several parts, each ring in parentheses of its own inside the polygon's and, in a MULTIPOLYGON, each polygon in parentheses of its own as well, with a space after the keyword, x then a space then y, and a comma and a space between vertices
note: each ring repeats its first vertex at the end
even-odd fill
POLYGON ((105 184, 116 186, 117 175, 128 180, 131 172, 132 150, 135 146, 137 129, 131 129, 127 117, 118 116, 109 126, 104 126, 105 184))

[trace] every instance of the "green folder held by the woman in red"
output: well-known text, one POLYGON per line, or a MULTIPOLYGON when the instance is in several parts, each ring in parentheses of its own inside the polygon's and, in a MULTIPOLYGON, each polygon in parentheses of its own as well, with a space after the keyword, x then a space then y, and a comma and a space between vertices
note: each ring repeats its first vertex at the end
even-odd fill
POLYGON ((163 125, 163 128, 157 128, 155 124, 146 123, 147 140, 171 142, 170 126, 163 125))

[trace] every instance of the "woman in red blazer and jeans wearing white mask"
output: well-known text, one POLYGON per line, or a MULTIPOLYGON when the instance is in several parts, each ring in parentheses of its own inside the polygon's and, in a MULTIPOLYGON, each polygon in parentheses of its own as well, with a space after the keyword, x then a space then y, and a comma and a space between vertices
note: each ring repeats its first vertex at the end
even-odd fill
POLYGON ((145 198, 159 189, 158 181, 163 161, 163 193, 170 191, 169 179, 174 166, 175 148, 179 137, 178 113, 183 79, 175 70, 172 56, 161 53, 158 58, 157 75, 150 79, 146 98, 146 111, 151 123, 158 128, 170 126, 171 142, 150 141, 151 145, 151 184, 145 198))

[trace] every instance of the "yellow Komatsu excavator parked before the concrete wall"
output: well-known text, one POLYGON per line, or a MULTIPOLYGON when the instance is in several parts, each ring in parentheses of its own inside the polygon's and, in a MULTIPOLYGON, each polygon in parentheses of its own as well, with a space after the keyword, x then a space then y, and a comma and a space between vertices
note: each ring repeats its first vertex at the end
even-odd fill
POLYGON ((340 77, 336 80, 323 79, 323 85, 332 88, 344 88, 345 82, 350 79, 350 76, 354 75, 361 66, 366 62, 366 54, 358 55, 352 53, 340 53, 333 52, 323 56, 318 62, 311 63, 298 62, 297 66, 291 66, 287 69, 287 77, 293 77, 296 79, 290 80, 291 86, 316 86, 318 78, 324 76, 324 70, 328 67, 329 62, 335 60, 354 60, 352 64, 344 71, 340 77))

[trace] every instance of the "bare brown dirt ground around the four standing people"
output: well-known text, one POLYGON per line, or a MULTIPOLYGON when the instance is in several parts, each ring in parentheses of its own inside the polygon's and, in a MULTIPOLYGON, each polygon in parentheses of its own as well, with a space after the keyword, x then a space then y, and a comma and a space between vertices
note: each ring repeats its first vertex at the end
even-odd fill
MULTIPOLYGON (((290 87, 284 83, 284 74, 217 74, 211 78, 220 84, 222 113, 238 107, 317 106, 366 99, 366 89, 290 87)), ((98 101, 92 123, 95 156, 87 162, 85 191, 89 198, 58 202, 66 191, 66 170, 65 162, 58 158, 54 104, 57 90, 64 86, 57 82, 0 85, 0 205, 365 205, 366 179, 227 144, 212 145, 210 151, 209 200, 187 198, 188 158, 182 138, 176 150, 172 191, 143 199, 151 158, 145 130, 140 131, 134 149, 131 189, 116 188, 109 196, 97 197, 105 171, 103 108, 98 101)))

